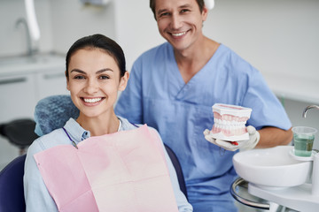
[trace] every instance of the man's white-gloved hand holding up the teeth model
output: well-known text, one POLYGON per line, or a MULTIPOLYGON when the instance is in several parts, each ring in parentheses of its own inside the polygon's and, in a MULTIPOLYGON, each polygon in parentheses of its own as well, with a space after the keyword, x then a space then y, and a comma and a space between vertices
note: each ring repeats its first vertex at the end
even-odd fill
POLYGON ((256 131, 256 129, 252 125, 247 126, 247 132, 249 133, 249 139, 241 140, 238 142, 227 141, 227 140, 215 140, 212 137, 212 133, 208 129, 204 131, 204 135, 205 135, 205 139, 211 143, 214 143, 214 145, 217 145, 226 150, 236 151, 239 148, 243 150, 252 149, 256 147, 257 143, 261 139, 260 133, 258 133, 258 131, 256 131))

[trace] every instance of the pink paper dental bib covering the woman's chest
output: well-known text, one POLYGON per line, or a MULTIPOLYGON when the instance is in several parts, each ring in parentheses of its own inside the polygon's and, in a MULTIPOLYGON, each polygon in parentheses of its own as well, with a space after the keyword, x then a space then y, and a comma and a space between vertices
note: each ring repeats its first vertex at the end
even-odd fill
POLYGON ((146 125, 35 154, 59 211, 178 211, 162 144, 146 125))

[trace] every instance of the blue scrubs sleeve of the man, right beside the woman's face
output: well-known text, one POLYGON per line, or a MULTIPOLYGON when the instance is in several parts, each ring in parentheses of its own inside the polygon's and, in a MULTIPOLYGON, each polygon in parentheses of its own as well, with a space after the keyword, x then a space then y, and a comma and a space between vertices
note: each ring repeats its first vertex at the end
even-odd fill
POLYGON ((128 86, 121 92, 115 106, 115 114, 125 117, 131 123, 143 124, 142 115, 142 71, 138 61, 133 64, 128 79, 128 86))

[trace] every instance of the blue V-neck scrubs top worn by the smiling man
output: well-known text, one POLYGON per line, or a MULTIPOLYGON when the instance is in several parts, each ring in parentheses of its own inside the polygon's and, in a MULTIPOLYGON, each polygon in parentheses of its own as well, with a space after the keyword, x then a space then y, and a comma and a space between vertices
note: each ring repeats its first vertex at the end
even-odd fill
POLYGON ((236 152, 205 140, 214 125, 212 105, 235 104, 253 109, 247 125, 257 129, 291 122, 261 73, 224 45, 185 84, 172 46, 165 42, 137 58, 115 113, 132 123, 159 131, 182 168, 194 211, 236 211, 229 190, 237 177, 232 164, 236 152), (218 209, 217 207, 223 208, 218 209))

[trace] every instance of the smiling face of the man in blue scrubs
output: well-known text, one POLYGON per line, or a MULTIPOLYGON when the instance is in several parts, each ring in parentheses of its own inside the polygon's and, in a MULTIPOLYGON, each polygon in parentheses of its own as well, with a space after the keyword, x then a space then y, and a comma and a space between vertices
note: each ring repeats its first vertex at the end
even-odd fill
POLYGON ((161 34, 176 50, 190 48, 202 37, 207 9, 196 0, 156 0, 155 15, 161 34))

